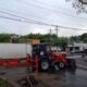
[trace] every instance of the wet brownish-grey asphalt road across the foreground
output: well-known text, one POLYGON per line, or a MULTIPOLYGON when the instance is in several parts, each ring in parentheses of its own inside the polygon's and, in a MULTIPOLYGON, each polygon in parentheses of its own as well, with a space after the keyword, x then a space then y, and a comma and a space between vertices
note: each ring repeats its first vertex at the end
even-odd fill
MULTIPOLYGON (((15 82, 26 74, 26 70, 0 69, 0 76, 10 82, 15 82)), ((53 73, 39 73, 39 78, 46 87, 87 87, 87 70, 64 70, 53 73)))

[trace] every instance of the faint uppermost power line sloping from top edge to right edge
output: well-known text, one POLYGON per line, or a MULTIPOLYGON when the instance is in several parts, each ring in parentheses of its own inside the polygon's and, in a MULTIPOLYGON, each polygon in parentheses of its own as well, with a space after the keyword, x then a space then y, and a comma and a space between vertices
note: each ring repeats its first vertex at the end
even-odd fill
POLYGON ((50 12, 60 13, 60 14, 73 16, 73 17, 76 17, 76 18, 79 17, 79 18, 82 18, 82 20, 86 20, 86 21, 87 21, 86 17, 80 17, 80 16, 72 15, 72 14, 70 14, 70 13, 61 12, 61 11, 58 11, 58 10, 52 10, 52 9, 45 8, 45 7, 38 5, 38 4, 34 4, 34 3, 30 3, 30 2, 27 2, 27 1, 24 1, 24 0, 16 0, 16 1, 20 1, 20 2, 22 2, 22 3, 24 3, 24 4, 27 4, 27 5, 29 4, 29 5, 32 5, 32 7, 36 7, 36 8, 39 8, 39 9, 44 9, 44 10, 47 10, 47 11, 50 11, 50 12))

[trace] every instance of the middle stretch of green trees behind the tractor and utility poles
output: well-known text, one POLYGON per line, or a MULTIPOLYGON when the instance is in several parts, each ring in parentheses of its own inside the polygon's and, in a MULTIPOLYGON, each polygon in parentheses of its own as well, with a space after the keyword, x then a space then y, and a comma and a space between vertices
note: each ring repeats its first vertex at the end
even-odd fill
POLYGON ((40 39, 41 42, 50 42, 54 46, 66 46, 69 42, 69 39, 65 37, 57 37, 57 35, 40 35, 40 34, 30 34, 30 35, 25 35, 22 38, 25 39, 40 39))

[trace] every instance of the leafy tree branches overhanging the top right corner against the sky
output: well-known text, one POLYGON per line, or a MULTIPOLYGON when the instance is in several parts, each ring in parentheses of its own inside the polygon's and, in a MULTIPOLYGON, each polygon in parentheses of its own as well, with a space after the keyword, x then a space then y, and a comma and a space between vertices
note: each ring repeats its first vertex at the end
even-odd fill
MULTIPOLYGON (((66 0, 72 1, 72 0, 66 0)), ((87 13, 87 0, 73 0, 73 8, 77 10, 78 13, 85 12, 87 13)))

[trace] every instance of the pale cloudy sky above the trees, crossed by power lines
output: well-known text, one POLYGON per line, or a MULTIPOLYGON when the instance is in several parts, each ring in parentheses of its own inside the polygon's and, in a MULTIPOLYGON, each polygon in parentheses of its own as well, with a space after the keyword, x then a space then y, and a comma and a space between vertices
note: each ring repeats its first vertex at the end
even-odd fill
POLYGON ((55 26, 80 28, 83 30, 58 27, 58 36, 74 36, 86 33, 87 14, 77 14, 72 2, 65 0, 0 0, 0 33, 57 34, 55 26), (15 21, 20 20, 20 21, 15 21))

